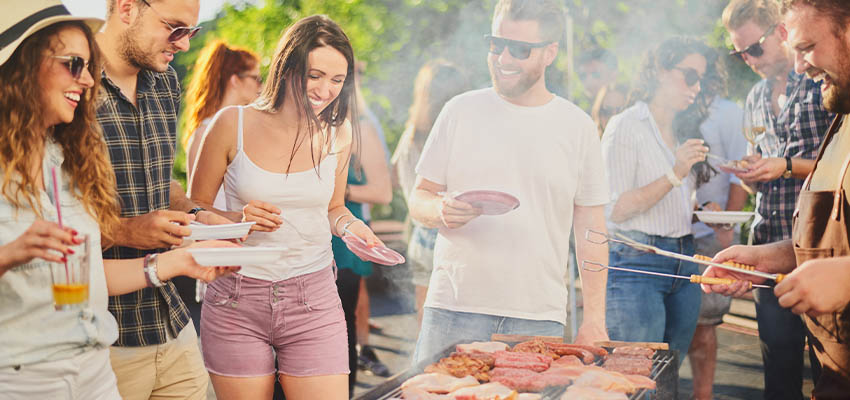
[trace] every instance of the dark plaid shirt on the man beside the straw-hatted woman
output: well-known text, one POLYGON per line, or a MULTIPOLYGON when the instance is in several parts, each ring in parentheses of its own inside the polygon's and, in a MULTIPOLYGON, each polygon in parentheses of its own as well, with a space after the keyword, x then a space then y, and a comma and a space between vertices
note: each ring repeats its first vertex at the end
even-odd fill
MULTIPOLYGON (((118 182, 121 217, 166 210, 170 201, 171 167, 177 143, 180 84, 171 67, 138 75, 136 104, 103 74, 97 119, 109 149, 118 182)), ((104 259, 144 257, 165 249, 113 247, 104 259)), ((118 320, 117 346, 162 344, 189 323, 189 311, 171 282, 109 298, 109 311, 118 320), (168 332, 167 332, 168 331, 168 332)))

